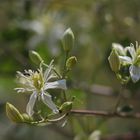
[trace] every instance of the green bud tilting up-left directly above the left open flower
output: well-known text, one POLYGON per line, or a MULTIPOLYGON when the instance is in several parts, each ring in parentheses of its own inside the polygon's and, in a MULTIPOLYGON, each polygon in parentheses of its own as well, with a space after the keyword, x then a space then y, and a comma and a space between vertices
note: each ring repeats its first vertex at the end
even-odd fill
POLYGON ((35 51, 30 51, 29 57, 32 60, 32 62, 34 62, 37 65, 39 65, 41 62, 43 62, 43 59, 41 58, 41 56, 35 51))

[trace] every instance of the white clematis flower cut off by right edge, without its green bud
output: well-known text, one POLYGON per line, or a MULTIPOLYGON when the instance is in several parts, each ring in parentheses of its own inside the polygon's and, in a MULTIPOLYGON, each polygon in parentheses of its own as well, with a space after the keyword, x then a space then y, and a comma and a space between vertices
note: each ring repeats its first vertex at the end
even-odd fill
POLYGON ((140 46, 138 42, 136 42, 136 46, 131 43, 125 48, 117 43, 113 43, 112 46, 118 52, 122 65, 130 65, 130 77, 136 83, 140 79, 140 46))

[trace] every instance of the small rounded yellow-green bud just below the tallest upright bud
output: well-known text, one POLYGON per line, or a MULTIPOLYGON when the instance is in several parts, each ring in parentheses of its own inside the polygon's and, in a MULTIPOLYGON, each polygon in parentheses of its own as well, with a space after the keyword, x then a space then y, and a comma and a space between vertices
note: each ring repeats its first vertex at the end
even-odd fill
POLYGON ((67 69, 72 69, 76 63, 77 63, 77 58, 75 56, 71 56, 70 58, 68 58, 66 62, 67 69))

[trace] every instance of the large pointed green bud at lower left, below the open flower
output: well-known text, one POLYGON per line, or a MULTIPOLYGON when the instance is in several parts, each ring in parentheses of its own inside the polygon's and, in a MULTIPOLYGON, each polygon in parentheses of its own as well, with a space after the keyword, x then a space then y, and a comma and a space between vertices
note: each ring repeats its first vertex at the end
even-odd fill
POLYGON ((16 123, 23 122, 23 117, 20 114, 20 112, 17 110, 16 107, 14 107, 10 103, 6 103, 6 114, 8 118, 13 122, 16 122, 16 123))

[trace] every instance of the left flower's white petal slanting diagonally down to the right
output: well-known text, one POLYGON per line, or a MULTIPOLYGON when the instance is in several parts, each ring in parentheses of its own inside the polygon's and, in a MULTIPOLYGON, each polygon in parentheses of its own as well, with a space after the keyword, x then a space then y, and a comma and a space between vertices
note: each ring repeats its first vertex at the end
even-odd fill
POLYGON ((59 110, 57 109, 56 105, 53 103, 51 95, 47 93, 42 93, 41 94, 41 99, 44 104, 46 104, 54 113, 59 113, 59 110))

